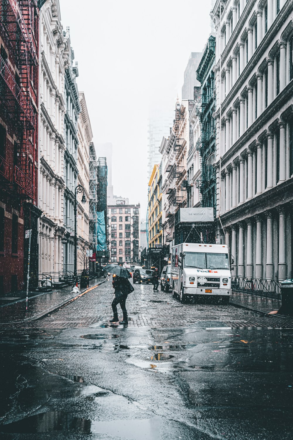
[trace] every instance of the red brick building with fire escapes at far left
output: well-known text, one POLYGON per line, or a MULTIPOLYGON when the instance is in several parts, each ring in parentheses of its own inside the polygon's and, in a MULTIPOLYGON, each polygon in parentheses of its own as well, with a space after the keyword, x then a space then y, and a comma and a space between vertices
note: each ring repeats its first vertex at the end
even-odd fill
POLYGON ((38 42, 37 0, 0 0, 0 293, 24 288, 26 229, 37 280, 38 42))

